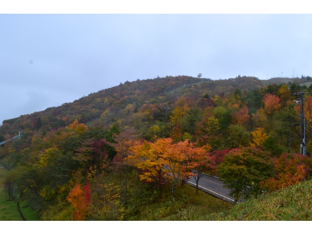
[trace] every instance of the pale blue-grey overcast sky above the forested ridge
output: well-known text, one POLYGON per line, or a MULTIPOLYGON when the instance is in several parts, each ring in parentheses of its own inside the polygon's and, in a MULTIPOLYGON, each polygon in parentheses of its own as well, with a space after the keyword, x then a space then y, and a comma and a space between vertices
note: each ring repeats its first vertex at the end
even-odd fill
POLYGON ((0 15, 0 122, 126 80, 312 75, 312 15, 0 15))

